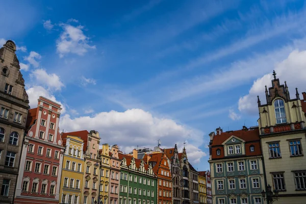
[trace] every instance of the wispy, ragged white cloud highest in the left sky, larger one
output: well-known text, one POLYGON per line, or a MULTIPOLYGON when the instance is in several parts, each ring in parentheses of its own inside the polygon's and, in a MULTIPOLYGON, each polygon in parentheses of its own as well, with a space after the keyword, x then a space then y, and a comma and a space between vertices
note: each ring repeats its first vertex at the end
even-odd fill
MULTIPOLYGON (((77 22, 75 19, 70 21, 77 22)), ((95 49, 95 45, 89 45, 89 37, 83 33, 84 27, 82 25, 73 26, 70 24, 60 24, 64 32, 57 40, 57 52, 60 57, 72 53, 79 56, 84 55, 89 49, 95 49)))

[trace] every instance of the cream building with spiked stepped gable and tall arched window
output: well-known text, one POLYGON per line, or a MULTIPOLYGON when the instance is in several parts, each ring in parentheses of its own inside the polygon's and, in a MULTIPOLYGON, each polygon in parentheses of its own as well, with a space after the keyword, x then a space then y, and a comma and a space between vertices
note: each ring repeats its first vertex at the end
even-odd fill
POLYGON ((306 199, 306 162, 304 100, 296 89, 291 99, 287 83, 274 79, 265 89, 266 104, 258 98, 258 120, 263 149, 266 183, 279 191, 277 203, 304 203, 306 199))

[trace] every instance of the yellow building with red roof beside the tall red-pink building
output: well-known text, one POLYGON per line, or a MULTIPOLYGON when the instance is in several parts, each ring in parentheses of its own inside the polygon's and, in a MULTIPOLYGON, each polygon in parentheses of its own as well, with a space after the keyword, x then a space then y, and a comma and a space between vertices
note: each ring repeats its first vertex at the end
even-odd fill
POLYGON ((84 173, 84 141, 78 132, 63 133, 66 147, 60 187, 60 203, 83 203, 82 186, 84 173))

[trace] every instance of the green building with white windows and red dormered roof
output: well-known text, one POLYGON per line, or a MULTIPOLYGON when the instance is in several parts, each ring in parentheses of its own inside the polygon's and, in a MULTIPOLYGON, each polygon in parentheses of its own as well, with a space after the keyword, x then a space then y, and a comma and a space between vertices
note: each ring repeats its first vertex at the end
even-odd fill
POLYGON ((119 153, 119 159, 119 204, 156 204, 157 177, 152 166, 130 155, 119 153))

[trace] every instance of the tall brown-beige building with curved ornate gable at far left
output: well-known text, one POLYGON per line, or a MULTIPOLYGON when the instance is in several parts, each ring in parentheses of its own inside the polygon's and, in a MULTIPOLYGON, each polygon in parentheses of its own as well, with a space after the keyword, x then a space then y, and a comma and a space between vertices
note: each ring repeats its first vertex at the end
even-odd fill
POLYGON ((28 94, 15 54, 8 40, 0 48, 0 200, 13 203, 22 140, 29 111, 28 94))

